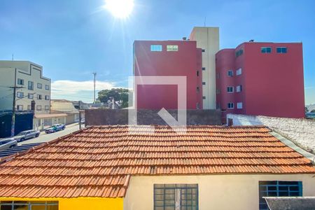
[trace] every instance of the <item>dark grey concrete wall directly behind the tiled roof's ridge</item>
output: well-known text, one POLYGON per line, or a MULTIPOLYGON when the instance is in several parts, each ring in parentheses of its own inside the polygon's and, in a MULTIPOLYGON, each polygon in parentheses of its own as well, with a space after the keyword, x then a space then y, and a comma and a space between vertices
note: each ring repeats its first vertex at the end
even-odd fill
MULTIPOLYGON (((138 110, 138 125, 166 125, 158 116, 159 110, 138 110)), ((176 118, 177 111, 169 110, 176 118)), ((85 110, 85 125, 127 125, 127 109, 87 109, 85 110)), ((218 110, 188 110, 188 125, 221 125, 221 111, 218 110)))

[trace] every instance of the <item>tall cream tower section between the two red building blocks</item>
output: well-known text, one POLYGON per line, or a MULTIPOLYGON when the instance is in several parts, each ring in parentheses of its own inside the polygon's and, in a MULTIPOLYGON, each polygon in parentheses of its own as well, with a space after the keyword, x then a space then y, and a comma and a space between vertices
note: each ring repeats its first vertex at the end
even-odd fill
POLYGON ((203 108, 216 109, 216 52, 219 50, 218 27, 194 27, 190 40, 202 48, 203 108))

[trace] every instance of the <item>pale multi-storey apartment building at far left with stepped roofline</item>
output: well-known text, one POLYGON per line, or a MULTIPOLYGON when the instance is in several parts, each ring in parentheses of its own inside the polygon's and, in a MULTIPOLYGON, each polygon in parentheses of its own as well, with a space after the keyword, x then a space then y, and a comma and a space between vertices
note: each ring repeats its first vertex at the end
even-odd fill
POLYGON ((0 110, 12 110, 13 89, 16 89, 15 109, 34 113, 50 113, 50 78, 43 76, 43 67, 29 61, 0 61, 0 110))

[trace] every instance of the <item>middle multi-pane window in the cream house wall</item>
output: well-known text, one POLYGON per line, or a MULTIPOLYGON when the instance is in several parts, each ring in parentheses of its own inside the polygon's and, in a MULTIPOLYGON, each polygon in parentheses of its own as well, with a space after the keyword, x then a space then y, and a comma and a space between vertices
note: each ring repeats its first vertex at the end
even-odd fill
POLYGON ((154 209, 191 209, 198 207, 197 184, 155 184, 154 209))

